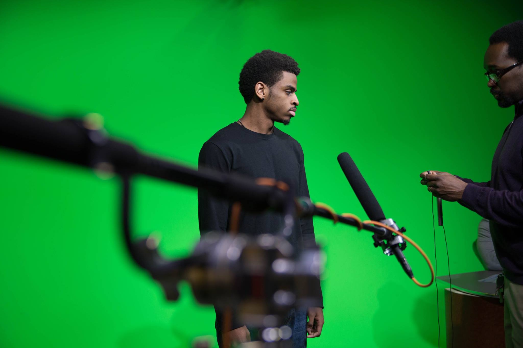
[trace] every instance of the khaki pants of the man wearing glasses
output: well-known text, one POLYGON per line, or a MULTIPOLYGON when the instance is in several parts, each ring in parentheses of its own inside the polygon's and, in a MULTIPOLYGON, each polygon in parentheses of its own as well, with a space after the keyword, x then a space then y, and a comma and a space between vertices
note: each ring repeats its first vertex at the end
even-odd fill
POLYGON ((505 277, 505 347, 523 348, 523 285, 505 277))

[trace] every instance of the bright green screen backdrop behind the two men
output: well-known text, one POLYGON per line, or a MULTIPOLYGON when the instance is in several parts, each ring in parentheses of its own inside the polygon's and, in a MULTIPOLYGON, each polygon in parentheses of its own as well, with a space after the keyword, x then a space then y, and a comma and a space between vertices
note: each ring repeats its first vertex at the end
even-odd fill
MULTIPOLYGON (((365 213, 339 169, 348 151, 387 217, 434 261, 430 196, 418 174, 486 181, 512 109, 488 93, 489 35, 520 2, 7 1, 0 98, 49 115, 98 112, 113 136, 196 166, 202 143, 240 118, 243 63, 263 49, 300 64, 299 112, 284 131, 305 153, 311 197, 365 213)), ((186 347, 213 335, 213 309, 177 302, 130 262, 119 182, 0 149, 0 346, 186 347)), ((198 240, 196 190, 137 179, 135 221, 169 256, 198 240)), ((480 270, 480 217, 445 203, 451 273, 480 270)), ((315 219, 326 251, 325 327, 310 347, 437 346, 436 289, 405 277, 370 234, 315 219)), ((437 228, 438 274, 447 274, 437 228)), ((428 268, 413 247, 417 278, 428 268)), ((442 284, 443 285, 443 284, 442 284)), ((440 292, 443 286, 440 287, 440 292)), ((440 319, 444 306, 440 294, 440 319)), ((442 325, 442 346, 445 344, 442 325)))

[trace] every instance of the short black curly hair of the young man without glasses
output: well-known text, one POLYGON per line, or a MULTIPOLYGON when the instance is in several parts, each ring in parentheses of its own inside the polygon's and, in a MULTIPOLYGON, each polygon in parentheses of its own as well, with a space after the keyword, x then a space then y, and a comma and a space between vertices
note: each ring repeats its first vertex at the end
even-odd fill
POLYGON ((300 74, 298 63, 287 54, 263 50, 249 58, 240 71, 238 81, 245 104, 253 99, 256 83, 261 81, 270 88, 282 78, 283 71, 296 76, 300 74))

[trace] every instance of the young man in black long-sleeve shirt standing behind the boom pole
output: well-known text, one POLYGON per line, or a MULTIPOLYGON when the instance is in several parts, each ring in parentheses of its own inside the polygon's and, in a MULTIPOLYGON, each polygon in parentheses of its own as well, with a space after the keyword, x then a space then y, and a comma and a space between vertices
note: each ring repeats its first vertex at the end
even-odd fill
MULTIPOLYGON (((290 56, 265 50, 255 54, 240 73, 240 92, 247 104, 238 121, 220 129, 203 144, 198 166, 249 177, 268 177, 284 181, 295 196, 309 197, 303 165, 303 151, 298 141, 275 127, 288 125, 299 105, 296 96, 298 64, 290 56)), ((198 190, 200 232, 228 231, 231 202, 198 190)), ((239 232, 250 235, 276 233, 283 226, 277 213, 242 214, 239 232)), ((301 218, 290 237, 297 249, 315 245, 311 218, 301 218)), ((312 284, 321 294, 320 282, 312 284)), ((319 337, 323 327, 323 303, 317 307, 294 308, 287 325, 291 327, 295 348, 306 346, 306 338, 319 337), (309 320, 307 320, 309 317, 309 320)), ((223 335, 231 342, 246 342, 250 333, 244 323, 233 318, 232 330, 222 332, 222 313, 216 310, 218 343, 223 335)))

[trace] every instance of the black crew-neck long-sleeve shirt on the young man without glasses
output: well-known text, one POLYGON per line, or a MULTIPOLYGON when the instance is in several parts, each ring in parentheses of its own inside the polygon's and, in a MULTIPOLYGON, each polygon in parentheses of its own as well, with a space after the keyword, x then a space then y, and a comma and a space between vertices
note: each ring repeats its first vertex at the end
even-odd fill
MULTIPOLYGON (((220 129, 203 144, 198 158, 198 167, 201 166, 252 178, 274 178, 289 184, 295 196, 309 197, 300 143, 276 127, 273 134, 256 133, 236 122, 220 129)), ((199 189, 200 233, 228 231, 231 204, 229 200, 214 197, 206 190, 199 189)), ((299 220, 289 242, 298 250, 315 246, 312 218, 299 220)), ((243 212, 238 231, 249 235, 275 234, 282 227, 282 214, 243 212)), ((320 281, 311 286, 321 296, 320 281)), ((323 301, 317 306, 323 307, 323 301)), ((217 310, 217 316, 219 315, 217 310)), ((234 321, 233 329, 242 325, 234 321)))

